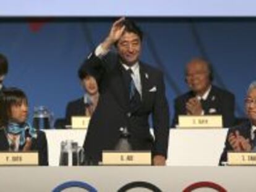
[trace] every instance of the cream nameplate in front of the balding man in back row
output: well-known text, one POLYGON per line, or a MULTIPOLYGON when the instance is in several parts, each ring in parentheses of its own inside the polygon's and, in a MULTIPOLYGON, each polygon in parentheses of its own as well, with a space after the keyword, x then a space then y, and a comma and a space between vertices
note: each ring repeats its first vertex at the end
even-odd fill
POLYGON ((177 128, 222 128, 221 115, 179 115, 177 128))

